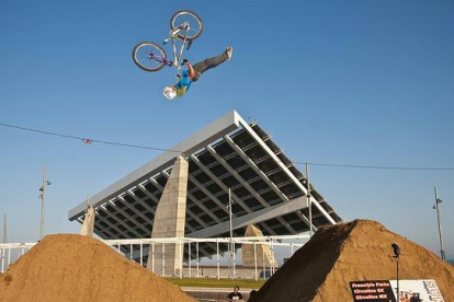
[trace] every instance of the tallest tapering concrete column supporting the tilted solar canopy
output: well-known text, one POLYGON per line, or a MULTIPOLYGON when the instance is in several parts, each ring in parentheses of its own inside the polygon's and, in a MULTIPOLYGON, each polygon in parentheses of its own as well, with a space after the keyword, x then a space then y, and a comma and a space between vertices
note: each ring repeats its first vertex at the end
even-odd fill
MULTIPOLYGON (((182 156, 178 156, 155 212, 151 239, 184 237, 188 173, 189 163, 182 156)), ((162 244, 155 244, 155 272, 162 275, 163 271, 164 276, 180 276, 182 249, 177 243, 168 243, 164 248, 162 244)), ((150 249, 148 259, 151 259, 151 253, 150 249)), ((151 270, 151 260, 148 260, 147 268, 151 270)))

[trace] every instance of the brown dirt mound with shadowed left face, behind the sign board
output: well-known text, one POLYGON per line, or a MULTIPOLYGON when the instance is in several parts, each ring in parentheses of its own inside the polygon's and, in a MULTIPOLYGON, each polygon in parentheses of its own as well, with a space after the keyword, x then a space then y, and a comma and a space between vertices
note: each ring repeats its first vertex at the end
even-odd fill
POLYGON ((350 281, 395 280, 391 244, 400 246, 399 279, 434 279, 454 301, 454 268, 381 223, 355 220, 317 231, 250 301, 353 301, 350 281))

